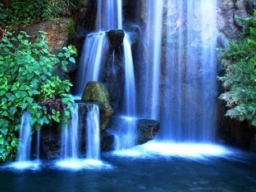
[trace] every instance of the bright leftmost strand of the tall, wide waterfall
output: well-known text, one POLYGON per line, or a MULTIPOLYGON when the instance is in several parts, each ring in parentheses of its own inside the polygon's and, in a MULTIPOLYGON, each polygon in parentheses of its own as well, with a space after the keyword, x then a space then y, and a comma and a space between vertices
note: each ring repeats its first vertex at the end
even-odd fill
POLYGON ((163 0, 147 1, 146 20, 146 93, 143 106, 144 116, 159 118, 159 82, 162 44, 163 0))

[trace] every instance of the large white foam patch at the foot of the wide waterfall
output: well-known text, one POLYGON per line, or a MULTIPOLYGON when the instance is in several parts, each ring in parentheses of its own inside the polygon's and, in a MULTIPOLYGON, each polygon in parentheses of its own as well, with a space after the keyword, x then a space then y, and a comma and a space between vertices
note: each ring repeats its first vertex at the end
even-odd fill
POLYGON ((150 141, 130 149, 114 151, 113 155, 133 158, 181 157, 205 159, 233 155, 230 148, 207 143, 171 143, 150 141))

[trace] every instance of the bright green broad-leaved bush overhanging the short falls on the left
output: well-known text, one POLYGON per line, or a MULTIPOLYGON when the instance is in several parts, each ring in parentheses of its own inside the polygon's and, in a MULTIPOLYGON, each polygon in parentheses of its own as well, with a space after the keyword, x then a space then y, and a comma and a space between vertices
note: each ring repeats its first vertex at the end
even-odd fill
MULTIPOLYGON (((60 111, 48 112, 40 102, 61 99, 67 109, 73 103, 72 84, 52 77, 52 73, 56 65, 65 70, 68 60, 74 61, 72 55, 76 51, 69 46, 57 57, 51 55, 46 32, 39 33, 40 38, 31 41, 26 32, 16 37, 9 32, 0 43, 0 161, 15 157, 15 132, 19 130, 23 111, 30 112, 31 126, 39 129, 51 119, 60 122, 60 111)), ((69 113, 65 115, 64 119, 69 119, 69 113)))

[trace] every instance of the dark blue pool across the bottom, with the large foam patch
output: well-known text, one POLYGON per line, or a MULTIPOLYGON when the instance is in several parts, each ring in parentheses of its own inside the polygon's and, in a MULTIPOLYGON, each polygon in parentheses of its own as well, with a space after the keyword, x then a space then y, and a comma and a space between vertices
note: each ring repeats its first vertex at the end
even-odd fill
POLYGON ((103 153, 107 168, 65 169, 53 161, 42 161, 38 170, 2 165, 0 191, 256 191, 255 153, 191 144, 168 144, 167 151, 163 146, 103 153))

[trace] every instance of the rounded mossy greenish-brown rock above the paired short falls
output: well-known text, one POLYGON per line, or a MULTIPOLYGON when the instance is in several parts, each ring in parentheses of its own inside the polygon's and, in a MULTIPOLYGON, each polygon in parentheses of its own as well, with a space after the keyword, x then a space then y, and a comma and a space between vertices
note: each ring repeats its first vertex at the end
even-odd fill
POLYGON ((110 117, 113 114, 112 107, 109 105, 109 92, 104 84, 96 81, 87 83, 84 94, 82 94, 82 101, 86 102, 101 102, 105 107, 105 114, 102 115, 101 130, 108 126, 110 117))

